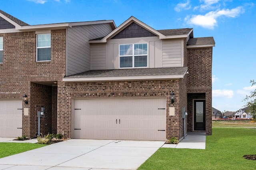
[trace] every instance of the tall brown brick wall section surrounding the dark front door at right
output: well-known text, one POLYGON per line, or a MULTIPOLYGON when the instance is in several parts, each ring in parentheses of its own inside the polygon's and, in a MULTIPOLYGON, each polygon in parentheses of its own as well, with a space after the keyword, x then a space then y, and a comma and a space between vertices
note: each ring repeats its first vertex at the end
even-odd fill
MULTIPOLYGON (((206 99, 206 135, 212 135, 212 47, 188 50, 188 93, 203 93, 206 99)), ((196 97, 197 94, 194 94, 196 97)), ((188 94, 188 111, 191 115, 191 100, 188 94)), ((188 130, 192 131, 188 116, 188 130)))

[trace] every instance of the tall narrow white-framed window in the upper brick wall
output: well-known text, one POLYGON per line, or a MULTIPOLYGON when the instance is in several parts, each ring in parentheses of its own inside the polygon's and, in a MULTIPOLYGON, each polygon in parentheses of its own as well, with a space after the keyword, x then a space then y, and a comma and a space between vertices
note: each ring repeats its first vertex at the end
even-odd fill
POLYGON ((51 34, 36 35, 36 61, 51 61, 51 34))

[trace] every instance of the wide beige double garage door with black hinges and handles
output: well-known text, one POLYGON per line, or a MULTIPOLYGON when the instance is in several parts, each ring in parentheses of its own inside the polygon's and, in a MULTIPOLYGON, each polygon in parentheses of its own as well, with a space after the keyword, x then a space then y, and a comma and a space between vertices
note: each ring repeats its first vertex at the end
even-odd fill
POLYGON ((166 99, 75 100, 74 139, 166 139, 166 99))

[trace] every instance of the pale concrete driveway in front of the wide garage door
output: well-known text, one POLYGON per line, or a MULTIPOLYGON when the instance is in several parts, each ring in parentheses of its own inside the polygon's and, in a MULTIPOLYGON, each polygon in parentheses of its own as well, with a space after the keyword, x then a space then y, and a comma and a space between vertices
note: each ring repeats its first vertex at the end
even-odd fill
POLYGON ((71 139, 0 159, 0 170, 137 169, 161 141, 71 139))

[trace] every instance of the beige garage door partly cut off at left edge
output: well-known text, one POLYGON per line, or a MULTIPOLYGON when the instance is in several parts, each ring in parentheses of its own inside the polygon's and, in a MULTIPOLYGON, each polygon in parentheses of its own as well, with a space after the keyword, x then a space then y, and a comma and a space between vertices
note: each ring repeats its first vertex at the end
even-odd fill
POLYGON ((22 100, 0 100, 0 137, 22 135, 22 100))

